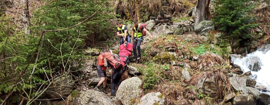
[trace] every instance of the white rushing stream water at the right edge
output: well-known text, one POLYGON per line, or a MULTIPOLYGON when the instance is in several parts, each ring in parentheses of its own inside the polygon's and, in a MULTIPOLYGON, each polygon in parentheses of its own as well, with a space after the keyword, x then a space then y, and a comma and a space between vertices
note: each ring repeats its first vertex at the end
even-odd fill
MULTIPOLYGON (((252 79, 255 79, 257 85, 263 85, 266 87, 266 90, 270 91, 270 45, 265 45, 259 50, 247 54, 247 56, 241 58, 232 56, 232 61, 234 64, 241 67, 242 71, 248 72, 251 71, 252 76, 249 76, 252 79), (255 63, 255 65, 254 65, 255 63), (261 68, 258 68, 258 71, 253 70, 253 66, 259 64, 261 68)), ((262 92, 270 95, 270 92, 262 92)))

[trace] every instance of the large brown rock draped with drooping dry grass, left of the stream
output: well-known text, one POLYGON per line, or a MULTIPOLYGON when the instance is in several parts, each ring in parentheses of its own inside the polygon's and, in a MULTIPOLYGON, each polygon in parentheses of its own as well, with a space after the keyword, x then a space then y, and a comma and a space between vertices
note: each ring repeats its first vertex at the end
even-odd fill
POLYGON ((203 76, 198 79, 196 85, 200 93, 210 95, 210 97, 216 97, 218 90, 218 84, 215 81, 214 73, 203 72, 203 76))

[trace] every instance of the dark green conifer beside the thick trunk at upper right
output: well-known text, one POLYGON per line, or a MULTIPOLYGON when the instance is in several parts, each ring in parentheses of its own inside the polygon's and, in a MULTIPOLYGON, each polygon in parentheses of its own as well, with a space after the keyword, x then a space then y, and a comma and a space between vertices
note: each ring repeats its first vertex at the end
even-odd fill
POLYGON ((249 13, 254 8, 254 5, 247 5, 249 1, 216 0, 212 20, 219 30, 227 32, 230 37, 249 37, 249 30, 258 25, 253 23, 254 17, 249 13))

